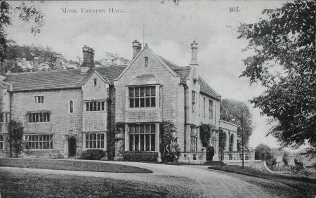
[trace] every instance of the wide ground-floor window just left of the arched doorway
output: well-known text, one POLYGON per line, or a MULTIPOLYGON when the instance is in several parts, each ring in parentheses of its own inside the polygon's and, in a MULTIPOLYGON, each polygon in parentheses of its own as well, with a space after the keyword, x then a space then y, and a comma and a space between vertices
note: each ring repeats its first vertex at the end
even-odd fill
POLYGON ((25 150, 53 150, 54 149, 53 138, 54 138, 54 136, 52 133, 49 133, 49 134, 25 134, 25 135, 23 135, 23 139, 25 141, 25 150), (29 136, 31 137, 31 140, 29 140, 29 136), (34 136, 34 138, 33 138, 33 136, 34 136), (36 136, 37 136, 37 138, 36 138, 36 136), (48 140, 46 140, 47 136, 48 136, 48 140), (49 148, 43 148, 44 143, 46 143, 46 144, 48 143, 49 148), (31 149, 28 148, 29 144, 31 145, 31 149), (40 145, 41 145, 41 148, 34 148, 34 147, 37 147, 37 145, 38 145, 38 147, 40 147, 40 145))

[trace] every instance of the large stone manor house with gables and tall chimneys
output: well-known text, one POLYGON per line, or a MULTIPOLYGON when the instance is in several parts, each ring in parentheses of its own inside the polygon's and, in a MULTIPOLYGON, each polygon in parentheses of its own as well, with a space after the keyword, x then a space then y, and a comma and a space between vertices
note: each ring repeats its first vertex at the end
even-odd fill
MULTIPOLYGON (((220 120, 220 95, 201 77, 211 70, 197 61, 191 44, 189 65, 180 67, 133 41, 128 65, 94 67, 94 50, 84 46, 79 69, 55 69, 1 75, 0 156, 9 153, 8 122, 22 121, 24 157, 78 157, 88 149, 107 150, 108 132, 120 123, 116 159, 124 152, 159 152, 159 125, 172 121, 177 128, 180 161, 205 161, 199 125, 211 124, 219 159, 218 131, 225 132, 225 150, 237 151, 237 126, 220 120), (200 68, 201 67, 201 68, 200 68)), ((4 71, 4 68, 1 68, 4 71)))

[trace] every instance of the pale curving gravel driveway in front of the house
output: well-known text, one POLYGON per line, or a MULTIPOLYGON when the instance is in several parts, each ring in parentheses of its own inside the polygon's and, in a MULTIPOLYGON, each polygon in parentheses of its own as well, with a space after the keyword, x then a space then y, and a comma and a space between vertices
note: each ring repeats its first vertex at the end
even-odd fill
MULTIPOLYGON (((15 172, 36 172, 48 174, 65 174, 73 176, 93 176, 99 178, 112 178, 118 180, 134 180, 147 183, 159 183, 162 185, 181 185, 183 178, 195 180, 202 192, 202 197, 279 197, 273 190, 269 190, 262 185, 258 185, 258 181, 263 180, 256 178, 257 182, 244 180, 236 176, 230 176, 227 173, 218 171, 210 171, 208 166, 173 166, 165 164, 147 164, 140 162, 127 161, 106 161, 111 164, 124 164, 129 166, 137 166, 144 169, 150 169, 153 173, 101 173, 86 171, 58 171, 47 169, 23 169, 13 167, 0 167, 6 171, 15 172), (166 177, 171 178, 166 180, 166 177), (181 181, 177 178, 182 178, 181 181)), ((270 180, 264 180, 272 186, 280 186, 287 189, 286 185, 275 183, 270 180)), ((282 196, 283 197, 283 196, 282 196)))

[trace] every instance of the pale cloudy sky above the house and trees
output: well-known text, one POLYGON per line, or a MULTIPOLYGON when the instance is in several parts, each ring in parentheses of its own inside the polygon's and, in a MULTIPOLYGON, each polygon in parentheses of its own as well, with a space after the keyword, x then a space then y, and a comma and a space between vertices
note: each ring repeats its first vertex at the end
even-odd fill
POLYGON ((247 41, 237 39, 237 27, 240 23, 257 22, 265 17, 261 15, 264 8, 280 7, 282 3, 284 1, 180 0, 176 6, 172 1, 160 4, 160 0, 33 2, 45 14, 41 33, 34 37, 29 31, 30 25, 17 17, 6 31, 8 38, 17 44, 51 46, 73 60, 82 57, 84 45, 96 50, 96 60, 103 58, 104 52, 131 59, 131 42, 138 39, 180 66, 190 63, 190 44, 197 41, 200 76, 222 98, 241 100, 249 105, 254 125, 250 146, 264 143, 277 147, 275 138, 265 137, 269 129, 267 117, 261 117, 260 109, 254 109, 249 103, 263 88, 256 84, 249 86, 248 79, 239 78, 245 68, 242 59, 251 52, 242 52, 247 41), (236 10, 236 7, 238 11, 231 12, 231 8, 236 10), (86 13, 93 10, 98 12, 86 13))

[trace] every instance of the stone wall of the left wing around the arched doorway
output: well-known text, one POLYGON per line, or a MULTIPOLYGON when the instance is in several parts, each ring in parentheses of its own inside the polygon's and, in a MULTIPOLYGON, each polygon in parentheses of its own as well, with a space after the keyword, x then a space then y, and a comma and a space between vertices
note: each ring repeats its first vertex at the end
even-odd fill
POLYGON ((25 134, 53 134, 53 150, 32 150, 27 157, 45 157, 56 152, 64 156, 67 153, 65 137, 77 136, 77 153, 80 154, 82 138, 82 91, 81 89, 59 91, 29 91, 13 93, 12 119, 22 121, 25 134), (34 103, 34 96, 44 96, 44 103, 34 103), (70 100, 74 112, 70 113, 70 100), (29 123, 27 112, 50 111, 51 121, 29 123))

